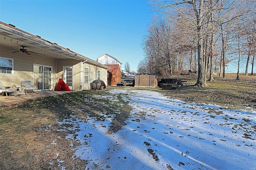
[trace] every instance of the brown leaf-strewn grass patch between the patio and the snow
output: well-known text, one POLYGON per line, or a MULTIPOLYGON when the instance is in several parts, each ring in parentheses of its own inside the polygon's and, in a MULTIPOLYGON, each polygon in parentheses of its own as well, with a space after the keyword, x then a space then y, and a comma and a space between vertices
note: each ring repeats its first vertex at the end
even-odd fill
POLYGON ((131 108, 120 95, 116 95, 116 102, 126 107, 116 108, 116 102, 95 97, 104 94, 109 95, 107 91, 80 91, 26 101, 12 108, 1 107, 0 170, 60 170, 61 166, 84 170, 88 162, 72 157, 72 149, 79 145, 76 139, 66 139, 70 131, 57 131, 69 125, 60 127, 57 121, 70 119, 71 114, 86 121, 88 117, 105 119, 100 115, 102 112, 106 115, 118 113, 109 133, 118 131, 125 125, 131 108), (71 142, 73 146, 70 146, 71 142), (60 163, 60 160, 64 162, 60 163))

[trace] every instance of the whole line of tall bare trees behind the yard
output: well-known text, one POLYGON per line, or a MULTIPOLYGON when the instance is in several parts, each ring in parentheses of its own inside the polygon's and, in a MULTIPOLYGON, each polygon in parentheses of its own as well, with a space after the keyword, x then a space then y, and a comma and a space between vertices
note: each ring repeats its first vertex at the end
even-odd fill
POLYGON ((256 56, 256 0, 150 0, 156 15, 148 24, 137 72, 171 75, 196 72, 196 85, 206 75, 225 79, 225 67, 235 63, 237 79, 242 62, 245 74, 256 56))

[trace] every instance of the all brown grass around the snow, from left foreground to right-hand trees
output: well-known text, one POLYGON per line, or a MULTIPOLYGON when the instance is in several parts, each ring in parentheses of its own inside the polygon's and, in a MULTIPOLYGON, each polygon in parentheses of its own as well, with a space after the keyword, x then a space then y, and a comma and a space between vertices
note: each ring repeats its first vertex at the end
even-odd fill
MULTIPOLYGON (((192 75, 179 76, 187 80, 186 86, 175 90, 152 90, 185 102, 217 104, 230 109, 245 109, 248 106, 255 109, 256 76, 241 76, 239 81, 233 77, 234 75, 229 74, 225 80, 214 77, 216 81, 208 81, 207 87, 200 88, 193 86, 196 79, 192 75)), ((108 89, 112 88, 114 87, 108 89)), ((116 108, 117 103, 107 98, 94 98, 95 95, 104 94, 110 95, 108 91, 81 91, 26 101, 15 107, 0 107, 0 170, 61 169, 58 160, 64 160, 61 165, 66 169, 84 169, 87 161, 72 157, 72 148, 78 146, 78 143, 72 140, 74 146, 70 146, 71 141, 65 139, 67 132, 57 131, 60 128, 57 121, 70 118, 70 114, 83 117, 86 121, 87 117, 104 119, 100 112, 106 115, 118 113, 115 121, 112 121, 109 133, 118 131, 125 125, 131 108, 122 101, 120 95, 116 96, 116 102, 124 104, 124 108, 116 108), (56 144, 51 144, 53 141, 56 144)))

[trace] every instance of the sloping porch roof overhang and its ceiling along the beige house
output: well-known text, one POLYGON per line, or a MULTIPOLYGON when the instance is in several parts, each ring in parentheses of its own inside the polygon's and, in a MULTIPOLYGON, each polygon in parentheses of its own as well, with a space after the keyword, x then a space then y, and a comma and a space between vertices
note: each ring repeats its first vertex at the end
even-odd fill
POLYGON ((6 48, 10 50, 10 53, 14 51, 22 53, 22 51, 20 51, 22 45, 26 46, 25 49, 31 52, 31 57, 33 55, 40 55, 56 59, 70 58, 108 68, 68 48, 61 47, 57 43, 52 43, 42 39, 40 36, 34 36, 28 32, 24 32, 11 24, 0 22, 0 48, 6 48))

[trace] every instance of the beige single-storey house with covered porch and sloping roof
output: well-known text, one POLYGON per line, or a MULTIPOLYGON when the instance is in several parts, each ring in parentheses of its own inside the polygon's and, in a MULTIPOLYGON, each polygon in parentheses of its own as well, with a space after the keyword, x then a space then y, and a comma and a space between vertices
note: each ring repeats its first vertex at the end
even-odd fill
POLYGON ((20 85, 30 80, 38 91, 53 90, 59 78, 71 90, 90 89, 96 79, 107 82, 107 67, 57 43, 0 22, 0 81, 20 85))

